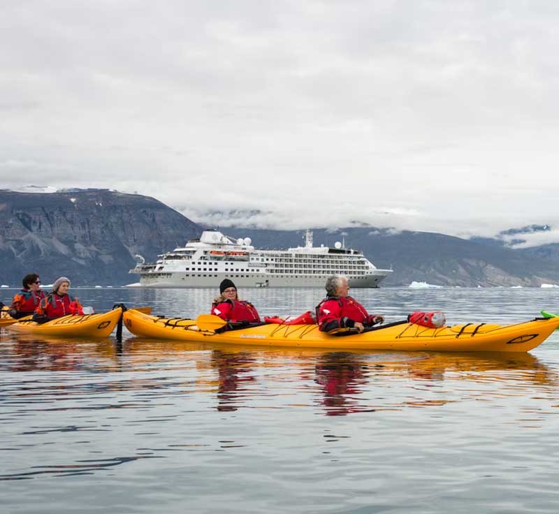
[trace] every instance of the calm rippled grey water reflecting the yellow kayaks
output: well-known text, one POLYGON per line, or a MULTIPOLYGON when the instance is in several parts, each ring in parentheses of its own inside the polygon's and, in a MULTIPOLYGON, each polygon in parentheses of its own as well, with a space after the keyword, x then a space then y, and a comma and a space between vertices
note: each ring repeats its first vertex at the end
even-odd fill
MULTIPOLYGON (((97 310, 190 317, 215 295, 75 292, 97 310)), ((353 292, 388 321, 419 309, 449 323, 559 311, 545 289, 353 292)), ((245 293, 261 314, 301 314, 321 295, 245 293)), ((559 332, 516 356, 124 337, 1 332, 1 513, 559 511, 559 332)))

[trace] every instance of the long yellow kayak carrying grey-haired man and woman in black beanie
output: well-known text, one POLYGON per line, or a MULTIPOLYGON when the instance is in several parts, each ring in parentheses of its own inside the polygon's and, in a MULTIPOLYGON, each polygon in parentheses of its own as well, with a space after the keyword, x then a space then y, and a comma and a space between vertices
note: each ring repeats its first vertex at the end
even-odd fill
MULTIPOLYGON (((205 328, 199 321, 201 318, 205 320, 216 316, 202 315, 198 321, 194 321, 158 318, 133 309, 123 314, 124 325, 130 332, 152 339, 355 350, 526 352, 542 344, 559 327, 559 318, 537 319, 514 325, 467 323, 440 328, 401 322, 389 323, 386 327, 381 325, 362 334, 336 337, 320 332, 317 325, 275 323, 218 333, 205 328)), ((216 325, 219 325, 219 321, 217 318, 216 325)), ((204 325, 208 326, 208 323, 204 325)))

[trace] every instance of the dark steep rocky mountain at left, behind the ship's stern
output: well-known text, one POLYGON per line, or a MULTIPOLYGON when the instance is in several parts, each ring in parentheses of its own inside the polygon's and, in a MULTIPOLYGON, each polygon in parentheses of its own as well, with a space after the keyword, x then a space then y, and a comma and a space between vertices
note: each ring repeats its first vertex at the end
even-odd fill
POLYGON ((0 281, 17 286, 38 272, 44 283, 129 284, 135 254, 146 260, 182 246, 201 227, 154 198, 87 189, 0 191, 0 281))

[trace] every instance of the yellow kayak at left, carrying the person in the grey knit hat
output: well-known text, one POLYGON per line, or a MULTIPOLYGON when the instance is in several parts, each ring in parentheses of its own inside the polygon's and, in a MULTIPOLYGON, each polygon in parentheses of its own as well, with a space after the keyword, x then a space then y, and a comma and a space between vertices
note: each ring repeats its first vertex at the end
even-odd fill
POLYGON ((121 315, 122 309, 117 307, 102 314, 62 316, 47 323, 24 318, 10 325, 8 330, 45 337, 108 337, 115 330, 121 315))

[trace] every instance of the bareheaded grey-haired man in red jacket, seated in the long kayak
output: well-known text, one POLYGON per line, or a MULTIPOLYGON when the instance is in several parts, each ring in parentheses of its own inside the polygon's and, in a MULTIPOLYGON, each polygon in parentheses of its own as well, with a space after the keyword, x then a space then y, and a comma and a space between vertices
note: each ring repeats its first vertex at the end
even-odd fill
POLYGON ((347 278, 333 275, 326 280, 326 298, 317 305, 317 323, 321 332, 335 328, 356 328, 359 333, 384 321, 384 316, 368 314, 359 302, 349 296, 347 278))

